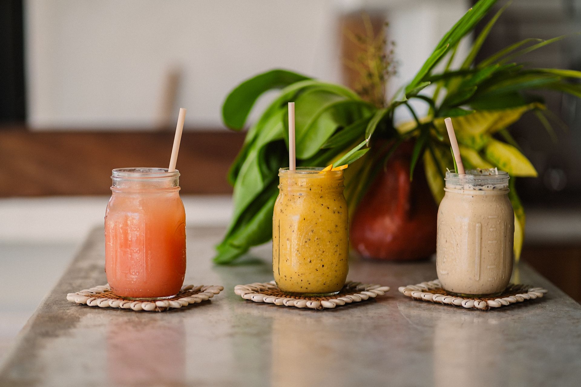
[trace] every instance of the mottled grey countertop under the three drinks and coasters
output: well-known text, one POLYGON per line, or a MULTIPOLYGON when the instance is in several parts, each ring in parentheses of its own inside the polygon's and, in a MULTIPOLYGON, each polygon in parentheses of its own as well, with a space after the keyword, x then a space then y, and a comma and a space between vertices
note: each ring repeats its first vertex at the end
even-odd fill
POLYGON ((91 308, 66 294, 104 284, 94 230, 20 333, 0 371, 19 386, 577 386, 581 305, 521 265, 514 276, 548 289, 489 312, 413 301, 400 285, 436 277, 433 262, 353 258, 349 279, 392 287, 331 310, 245 301, 234 285, 272 279, 267 246, 232 266, 210 262, 222 227, 188 229, 186 283, 221 294, 164 313, 91 308))

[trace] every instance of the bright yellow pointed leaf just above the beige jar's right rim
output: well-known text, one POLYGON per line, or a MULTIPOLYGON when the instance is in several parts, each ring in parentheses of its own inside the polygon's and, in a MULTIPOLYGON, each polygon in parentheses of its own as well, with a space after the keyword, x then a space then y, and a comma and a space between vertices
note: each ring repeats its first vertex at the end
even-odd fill
POLYGON ((537 171, 528 158, 510 144, 490 139, 486 144, 484 154, 488 161, 511 176, 533 178, 537 176, 537 171))

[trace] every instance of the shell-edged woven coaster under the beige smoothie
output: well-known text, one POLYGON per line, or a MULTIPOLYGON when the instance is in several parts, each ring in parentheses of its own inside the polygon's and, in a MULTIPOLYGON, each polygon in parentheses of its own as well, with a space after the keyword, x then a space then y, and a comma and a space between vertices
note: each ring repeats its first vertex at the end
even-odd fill
POLYGON ((541 298, 546 292, 543 288, 533 288, 529 285, 509 284, 502 294, 496 297, 458 297, 443 290, 439 280, 422 282, 417 285, 407 285, 399 291, 408 297, 420 301, 441 303, 444 305, 462 306, 467 309, 489 310, 500 308, 515 302, 525 302, 530 299, 541 298))

